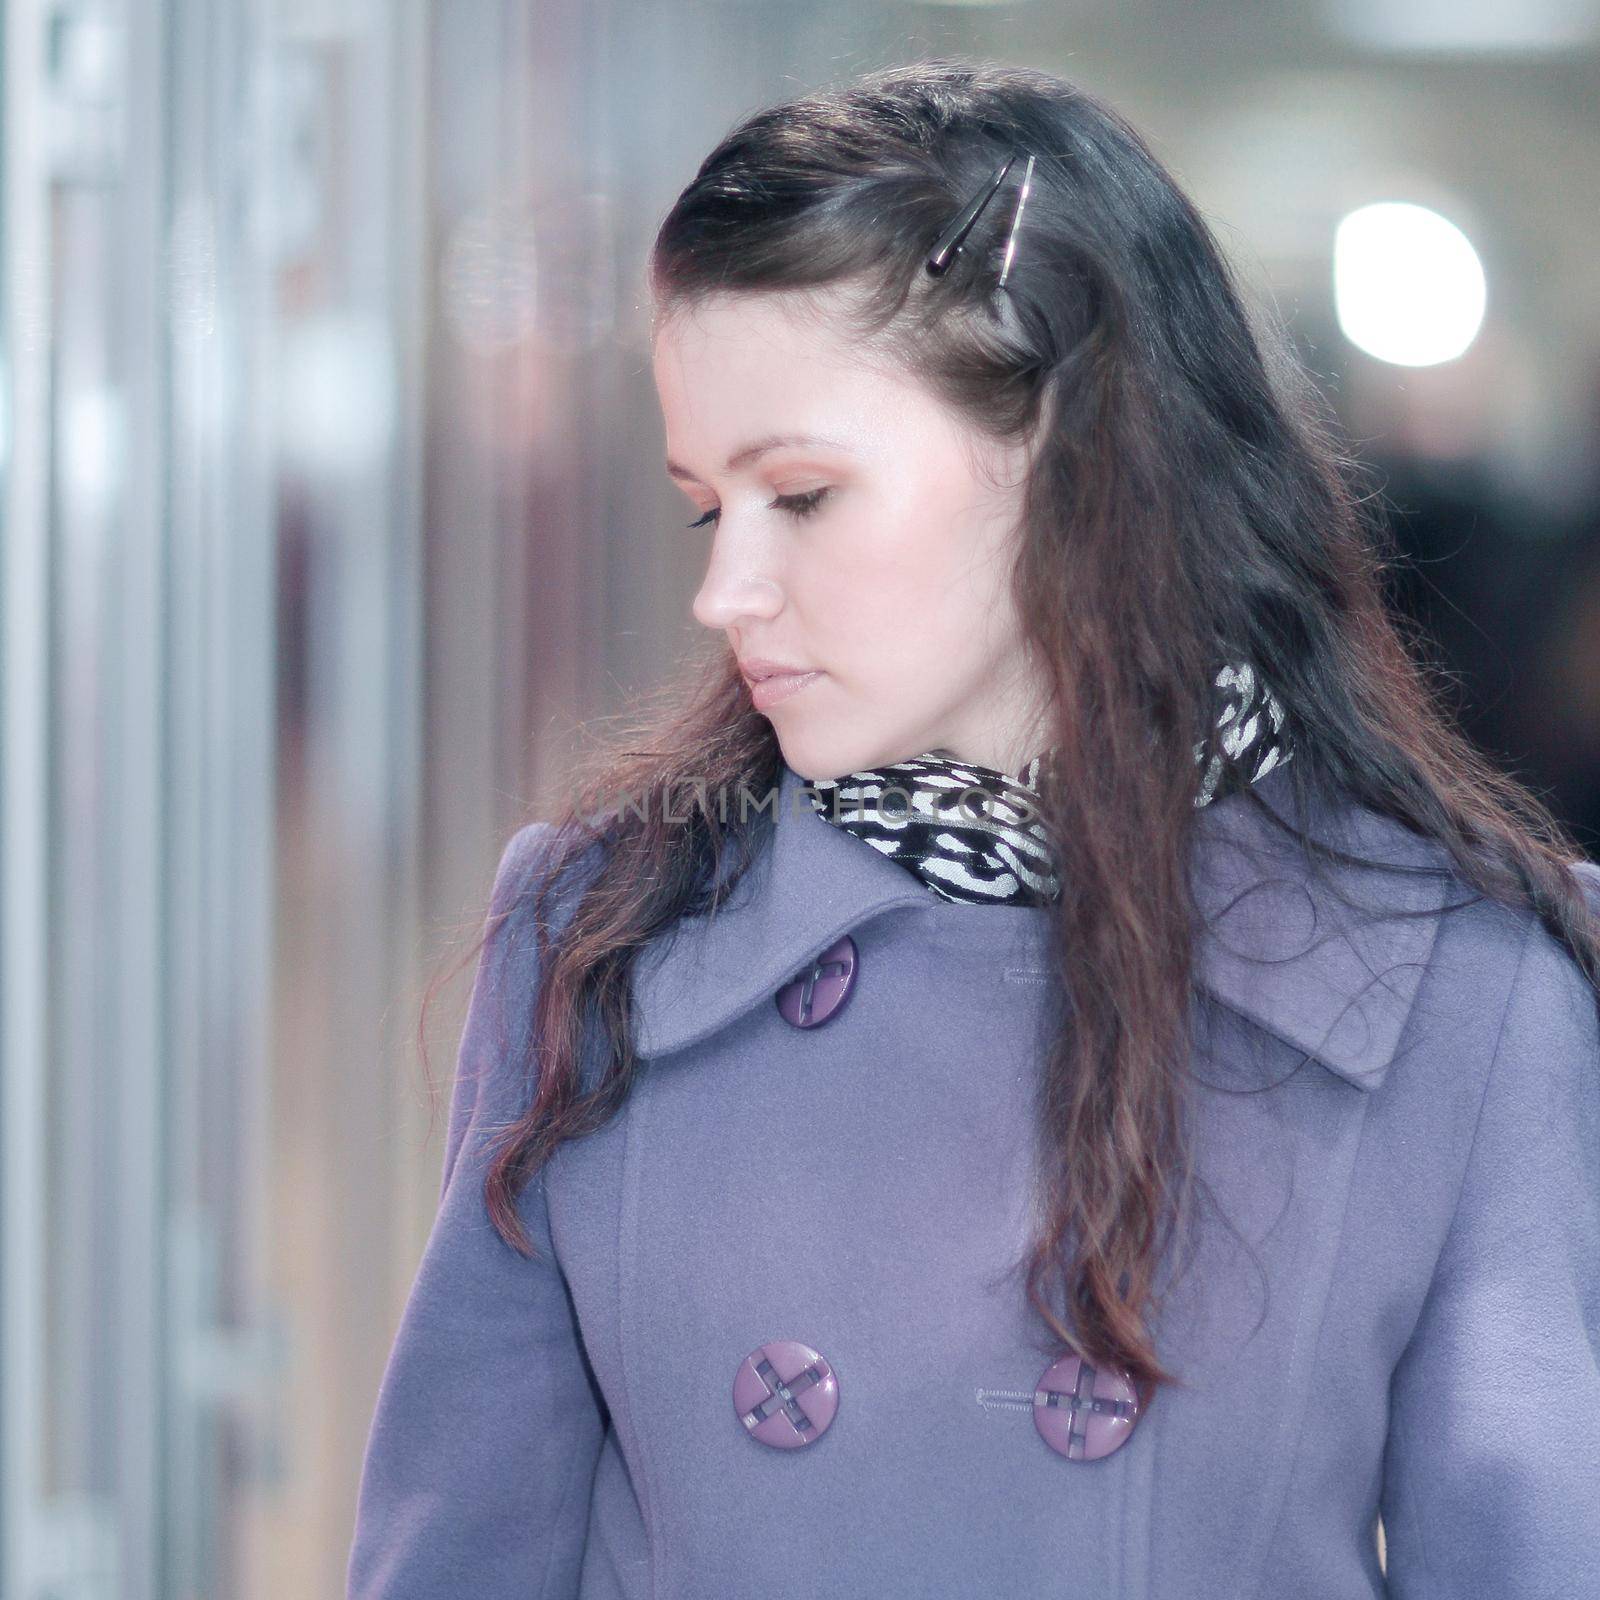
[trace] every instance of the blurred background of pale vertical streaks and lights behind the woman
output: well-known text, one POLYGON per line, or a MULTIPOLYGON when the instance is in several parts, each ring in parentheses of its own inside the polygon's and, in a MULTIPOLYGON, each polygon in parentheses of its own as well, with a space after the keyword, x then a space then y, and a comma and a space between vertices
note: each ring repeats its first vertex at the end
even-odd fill
POLYGON ((3 1600, 342 1595, 470 971, 421 992, 702 632, 643 258, 760 104, 968 54, 1126 112, 1600 842, 1600 0, 3 14, 3 1600))

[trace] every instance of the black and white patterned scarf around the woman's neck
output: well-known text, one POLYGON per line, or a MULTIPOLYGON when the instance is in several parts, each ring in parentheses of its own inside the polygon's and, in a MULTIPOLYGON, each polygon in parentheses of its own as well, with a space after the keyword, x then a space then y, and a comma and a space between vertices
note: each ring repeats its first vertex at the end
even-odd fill
MULTIPOLYGON (((1195 805, 1216 798, 1224 776, 1253 784, 1291 755, 1278 698, 1245 662, 1213 680, 1222 754, 1202 773, 1195 805)), ((1195 765, 1203 744, 1195 746, 1195 765)), ((898 861, 949 901, 1043 906, 1061 893, 1037 811, 1035 755, 1019 774, 928 750, 904 762, 808 784, 813 808, 898 861)))

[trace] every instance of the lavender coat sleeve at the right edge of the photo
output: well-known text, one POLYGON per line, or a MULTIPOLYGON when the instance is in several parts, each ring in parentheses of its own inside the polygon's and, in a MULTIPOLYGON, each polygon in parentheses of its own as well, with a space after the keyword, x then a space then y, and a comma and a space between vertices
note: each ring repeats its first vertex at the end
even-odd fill
MULTIPOLYGON (((1573 872, 1600 909, 1600 869, 1573 872)), ((1456 1027, 1450 1064, 1472 1090, 1464 1155, 1390 1378, 1382 1517, 1397 1592, 1421 1582, 1531 1600, 1574 1592, 1594 1562, 1600 1002, 1531 912, 1474 907, 1470 922, 1440 952, 1454 965, 1437 1018, 1440 1035, 1456 1027), (1517 1382, 1528 1371, 1560 1397, 1534 1432, 1517 1382)), ((1408 1170, 1435 1142, 1432 1128, 1413 1138, 1408 1170)))

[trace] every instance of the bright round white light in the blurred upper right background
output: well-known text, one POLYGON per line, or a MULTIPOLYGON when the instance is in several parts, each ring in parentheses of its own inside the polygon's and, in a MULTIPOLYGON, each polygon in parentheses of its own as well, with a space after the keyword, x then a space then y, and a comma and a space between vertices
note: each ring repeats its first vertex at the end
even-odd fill
POLYGON ((1365 205, 1333 235, 1341 333, 1397 366, 1453 362, 1483 326, 1488 286, 1472 240, 1427 206, 1365 205))

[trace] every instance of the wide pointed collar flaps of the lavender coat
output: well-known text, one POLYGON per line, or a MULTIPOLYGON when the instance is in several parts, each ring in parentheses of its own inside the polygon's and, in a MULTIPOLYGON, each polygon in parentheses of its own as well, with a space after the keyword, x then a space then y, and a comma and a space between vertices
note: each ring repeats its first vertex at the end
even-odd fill
MULTIPOLYGON (((686 1050, 770 1003, 811 957, 874 917, 938 904, 902 866, 818 814, 803 782, 782 766, 770 848, 730 898, 709 917, 682 918, 640 954, 632 979, 638 1054, 686 1050)), ((1280 816, 1291 814, 1288 763, 1258 779, 1254 790, 1280 816)), ((1438 866, 1443 856, 1362 806, 1318 803, 1309 822, 1315 837, 1384 862, 1438 866)), ((1398 1048, 1448 877, 1344 866, 1328 872, 1354 907, 1306 872, 1294 840, 1243 792, 1205 806, 1190 869, 1202 912, 1195 981, 1338 1077, 1371 1090, 1398 1048), (1410 915, 1379 915, 1387 912, 1410 915)))

